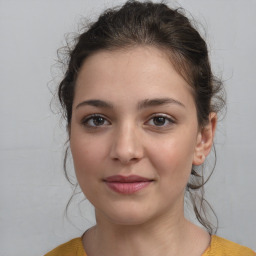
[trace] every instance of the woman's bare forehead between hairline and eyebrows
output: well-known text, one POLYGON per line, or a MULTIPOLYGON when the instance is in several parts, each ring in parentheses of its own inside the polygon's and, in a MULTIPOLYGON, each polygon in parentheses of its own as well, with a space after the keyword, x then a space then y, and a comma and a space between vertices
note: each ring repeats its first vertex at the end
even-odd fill
POLYGON ((163 97, 184 101, 191 87, 176 71, 165 51, 155 47, 135 47, 99 51, 88 57, 78 74, 75 100, 81 97, 163 97), (180 99, 180 100, 181 100, 180 99))

